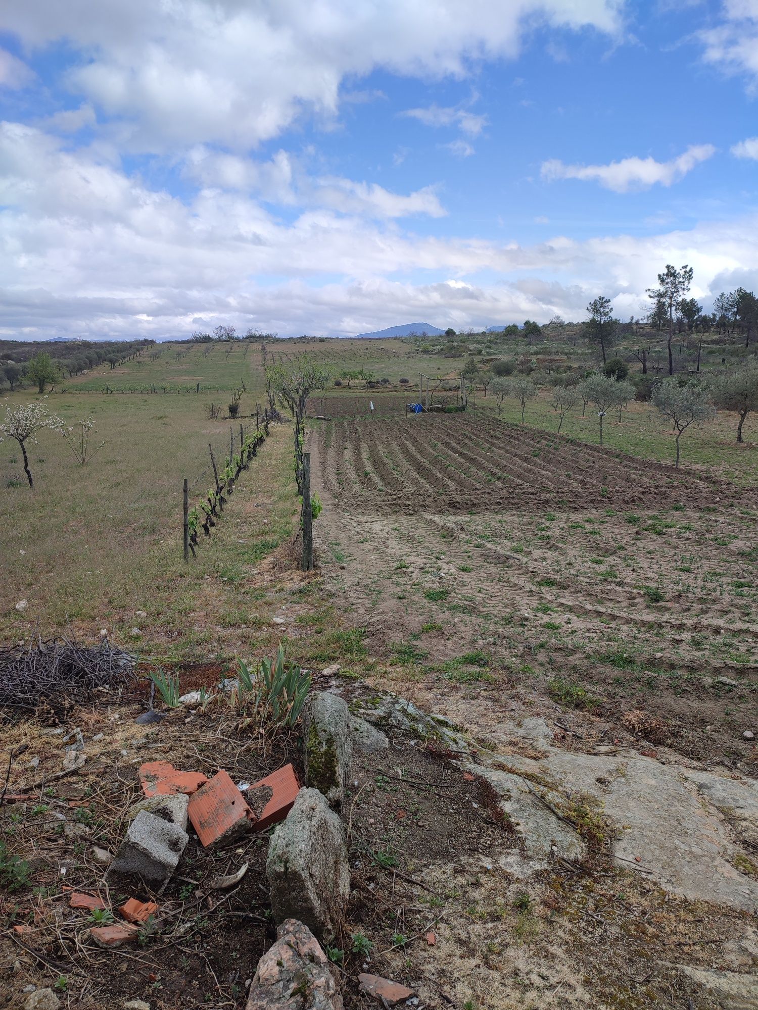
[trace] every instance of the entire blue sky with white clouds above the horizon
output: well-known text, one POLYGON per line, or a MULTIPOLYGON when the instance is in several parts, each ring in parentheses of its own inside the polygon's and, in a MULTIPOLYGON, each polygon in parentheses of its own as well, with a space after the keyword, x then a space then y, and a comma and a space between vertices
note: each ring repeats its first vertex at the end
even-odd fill
POLYGON ((0 5, 0 334, 758 288, 758 0, 0 5))

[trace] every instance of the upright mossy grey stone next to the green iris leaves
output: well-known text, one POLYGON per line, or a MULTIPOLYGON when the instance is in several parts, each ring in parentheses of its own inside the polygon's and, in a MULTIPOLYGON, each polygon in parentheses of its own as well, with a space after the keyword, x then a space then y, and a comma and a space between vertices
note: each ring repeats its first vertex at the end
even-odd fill
POLYGON ((305 785, 323 793, 331 806, 340 806, 353 765, 348 703, 326 691, 313 692, 303 706, 302 721, 305 785))

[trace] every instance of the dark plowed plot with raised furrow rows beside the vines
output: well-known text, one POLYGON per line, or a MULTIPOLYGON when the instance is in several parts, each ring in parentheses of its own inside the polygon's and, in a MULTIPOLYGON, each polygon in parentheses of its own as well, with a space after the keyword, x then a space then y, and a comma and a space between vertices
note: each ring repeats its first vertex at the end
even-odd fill
POLYGON ((726 482, 494 419, 338 417, 316 435, 324 489, 365 512, 713 505, 726 482))

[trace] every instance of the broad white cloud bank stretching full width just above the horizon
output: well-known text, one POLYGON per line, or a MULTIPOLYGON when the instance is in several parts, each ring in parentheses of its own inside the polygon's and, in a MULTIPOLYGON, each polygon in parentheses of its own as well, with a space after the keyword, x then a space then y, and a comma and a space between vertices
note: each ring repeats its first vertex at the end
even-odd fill
POLYGON ((429 213, 429 196, 321 182, 342 207, 314 206, 284 222, 245 191, 209 186, 185 202, 95 150, 70 152, 38 129, 4 123, 0 331, 178 336, 196 318, 289 334, 403 319, 458 329, 556 312, 581 318, 598 292, 617 314, 639 315, 666 263, 693 267, 698 300, 730 278, 758 283, 758 217, 748 213, 687 231, 556 235, 522 246, 415 235, 392 216, 395 200, 420 200, 429 213))

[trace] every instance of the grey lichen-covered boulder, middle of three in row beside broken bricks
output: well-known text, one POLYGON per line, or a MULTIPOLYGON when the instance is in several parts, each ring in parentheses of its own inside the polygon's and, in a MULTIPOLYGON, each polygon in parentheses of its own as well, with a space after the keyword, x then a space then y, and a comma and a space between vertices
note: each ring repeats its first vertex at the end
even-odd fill
POLYGON ((329 940, 345 914, 350 869, 345 829, 317 789, 301 789, 271 836, 266 875, 277 922, 299 919, 329 940))

